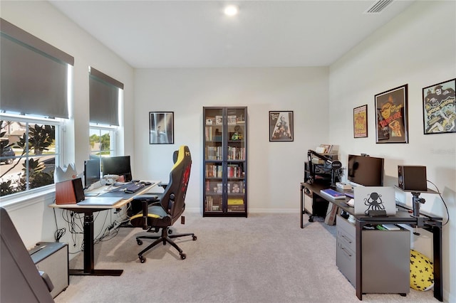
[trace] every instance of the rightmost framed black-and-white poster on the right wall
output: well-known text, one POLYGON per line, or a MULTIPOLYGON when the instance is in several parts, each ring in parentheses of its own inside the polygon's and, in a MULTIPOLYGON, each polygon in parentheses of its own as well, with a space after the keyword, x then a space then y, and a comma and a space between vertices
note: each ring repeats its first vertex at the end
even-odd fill
POLYGON ((423 87, 425 134, 456 132, 456 79, 423 87))

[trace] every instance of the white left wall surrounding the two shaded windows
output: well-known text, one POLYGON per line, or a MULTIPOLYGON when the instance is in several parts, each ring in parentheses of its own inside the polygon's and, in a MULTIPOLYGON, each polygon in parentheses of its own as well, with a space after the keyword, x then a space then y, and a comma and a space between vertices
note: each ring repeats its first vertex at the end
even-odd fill
MULTIPOLYGON (((125 133, 133 134, 134 119, 131 106, 133 104, 133 68, 130 68, 128 64, 75 23, 69 21, 66 16, 56 11, 47 1, 0 1, 0 13, 1 18, 6 21, 75 58, 73 121, 66 127, 66 137, 70 138, 66 142, 64 150, 66 164, 75 163, 78 171, 82 172, 83 161, 88 159, 88 66, 101 70, 125 85, 124 103, 129 106, 124 108, 125 125, 123 127, 125 133)), ((125 136, 125 139, 120 136, 118 144, 120 151, 125 151, 125 154, 133 154, 133 135, 125 136)), ((48 204, 53 203, 54 198, 55 193, 52 191, 30 197, 20 205, 6 207, 27 248, 33 247, 38 241, 53 241, 56 223, 53 210, 48 208, 48 204)), ((72 244, 73 240, 68 232, 68 225, 63 222, 61 212, 56 211, 58 228, 67 228, 66 236, 61 241, 72 244)), ((101 217, 104 216, 105 212, 101 217)), ((98 221, 103 223, 103 220, 98 221)), ((98 230, 95 230, 96 233, 98 230)), ((70 245, 70 251, 79 250, 81 237, 78 237, 77 243, 76 248, 70 245)))

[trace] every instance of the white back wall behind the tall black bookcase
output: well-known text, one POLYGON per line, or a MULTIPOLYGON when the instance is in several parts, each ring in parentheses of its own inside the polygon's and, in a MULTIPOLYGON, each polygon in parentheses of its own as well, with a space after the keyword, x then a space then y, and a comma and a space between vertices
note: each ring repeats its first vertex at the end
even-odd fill
MULTIPOLYGON (((187 210, 202 213, 202 107, 248 107, 249 212, 299 212, 307 149, 328 138, 328 68, 135 71, 135 176, 167 181, 172 151, 187 144, 187 210), (294 111, 294 142, 269 142, 269 110, 294 111), (175 144, 149 144, 148 112, 175 112, 175 144)), ((299 224, 296 216, 296 224, 299 224)))

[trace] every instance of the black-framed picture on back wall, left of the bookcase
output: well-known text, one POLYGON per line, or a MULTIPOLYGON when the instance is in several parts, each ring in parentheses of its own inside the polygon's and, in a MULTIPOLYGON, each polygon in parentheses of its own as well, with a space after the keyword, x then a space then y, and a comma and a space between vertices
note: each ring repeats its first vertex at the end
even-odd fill
POLYGON ((174 112, 149 112, 149 144, 174 144, 174 112))

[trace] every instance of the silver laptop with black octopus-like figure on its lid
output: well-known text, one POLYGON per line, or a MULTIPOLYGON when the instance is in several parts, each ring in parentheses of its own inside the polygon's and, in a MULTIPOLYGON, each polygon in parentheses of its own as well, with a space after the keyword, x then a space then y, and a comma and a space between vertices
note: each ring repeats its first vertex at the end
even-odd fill
POLYGON ((395 216, 396 201, 394 187, 391 186, 356 186, 355 215, 368 216, 369 211, 386 211, 387 216, 395 216))

